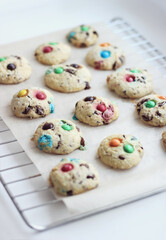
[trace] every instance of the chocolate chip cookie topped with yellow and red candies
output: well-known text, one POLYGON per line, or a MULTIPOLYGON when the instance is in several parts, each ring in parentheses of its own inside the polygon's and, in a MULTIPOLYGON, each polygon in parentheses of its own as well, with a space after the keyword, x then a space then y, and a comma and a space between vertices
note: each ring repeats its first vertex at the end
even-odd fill
POLYGON ((22 89, 13 96, 11 109, 20 118, 40 118, 54 112, 52 94, 41 88, 22 89))

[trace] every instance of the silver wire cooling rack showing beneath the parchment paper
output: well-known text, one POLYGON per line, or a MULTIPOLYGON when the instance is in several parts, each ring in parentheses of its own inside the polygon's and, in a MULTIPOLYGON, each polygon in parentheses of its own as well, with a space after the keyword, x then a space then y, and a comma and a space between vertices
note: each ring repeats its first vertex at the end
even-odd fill
MULTIPOLYGON (((147 62, 155 63, 166 77, 166 56, 142 34, 122 18, 111 20, 108 26, 137 49, 147 62)), ((107 205, 79 215, 73 214, 69 212, 62 199, 55 198, 52 188, 43 180, 35 165, 1 118, 0 180, 25 223, 38 231, 47 230, 166 190, 166 188, 158 188, 114 205, 107 205)))

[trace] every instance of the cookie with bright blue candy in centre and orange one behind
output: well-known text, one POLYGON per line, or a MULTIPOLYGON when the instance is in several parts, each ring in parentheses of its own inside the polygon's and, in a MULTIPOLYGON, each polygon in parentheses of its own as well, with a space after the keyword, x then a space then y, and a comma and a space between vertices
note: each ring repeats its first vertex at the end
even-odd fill
POLYGON ((86 55, 87 63, 100 70, 116 70, 124 63, 123 51, 110 43, 100 43, 86 55))

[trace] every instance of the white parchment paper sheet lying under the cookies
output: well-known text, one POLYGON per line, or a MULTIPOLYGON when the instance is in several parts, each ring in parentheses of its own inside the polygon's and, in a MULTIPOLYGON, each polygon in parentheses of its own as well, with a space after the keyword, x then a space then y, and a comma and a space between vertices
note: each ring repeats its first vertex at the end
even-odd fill
MULTIPOLYGON (((166 81, 162 78, 161 73, 155 70, 153 65, 147 65, 144 59, 138 55, 137 51, 132 49, 119 36, 111 32, 105 23, 94 24, 94 27, 99 32, 99 42, 111 42, 123 48, 126 55, 125 66, 147 68, 153 75, 154 91, 161 95, 166 95, 166 81)), ((110 125, 91 127, 73 120, 83 132, 83 136, 87 142, 87 150, 76 150, 67 156, 82 158, 93 163, 100 176, 100 185, 98 188, 77 196, 63 198, 67 207, 73 212, 80 213, 92 210, 166 186, 166 153, 161 144, 161 133, 165 128, 144 125, 138 119, 132 101, 124 100, 107 89, 106 77, 111 71, 99 71, 89 67, 92 73, 91 89, 77 93, 59 93, 44 86, 43 76, 47 66, 35 60, 33 56, 34 50, 39 44, 44 42, 66 42, 65 35, 68 31, 69 29, 66 29, 0 47, 0 56, 10 54, 25 56, 32 65, 32 76, 29 80, 18 85, 0 85, 0 116, 12 130, 27 155, 47 181, 52 167, 64 156, 47 154, 34 146, 31 138, 38 125, 52 118, 72 120, 75 103, 79 99, 89 95, 110 98, 118 104, 120 109, 119 119, 110 125), (21 89, 34 86, 46 88, 53 94, 55 98, 55 113, 45 118, 33 120, 20 119, 13 116, 10 110, 12 96, 21 89), (145 154, 137 167, 125 171, 113 170, 99 161, 96 153, 100 142, 106 136, 114 133, 132 134, 142 142, 145 154)), ((85 56, 89 49, 72 47, 71 57, 66 63, 82 63, 87 65, 85 56)))

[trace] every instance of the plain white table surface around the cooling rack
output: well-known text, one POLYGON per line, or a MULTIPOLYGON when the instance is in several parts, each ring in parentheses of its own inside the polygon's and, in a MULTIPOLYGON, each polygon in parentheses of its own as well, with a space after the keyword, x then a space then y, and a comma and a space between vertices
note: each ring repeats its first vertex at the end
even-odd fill
MULTIPOLYGON (((164 0, 0 0, 0 44, 117 16, 166 53, 164 0)), ((0 239, 163 240, 166 193, 38 233, 24 224, 0 185, 0 239)))

